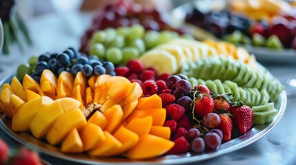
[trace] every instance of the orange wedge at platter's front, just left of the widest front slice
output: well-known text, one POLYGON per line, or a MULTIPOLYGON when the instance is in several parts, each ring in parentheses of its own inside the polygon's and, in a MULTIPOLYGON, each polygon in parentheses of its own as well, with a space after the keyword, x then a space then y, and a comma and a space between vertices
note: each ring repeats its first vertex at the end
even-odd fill
POLYGON ((108 133, 108 131, 103 131, 103 133, 105 134, 106 139, 94 149, 88 151, 88 154, 93 156, 107 157, 114 155, 117 150, 122 147, 121 142, 108 133))

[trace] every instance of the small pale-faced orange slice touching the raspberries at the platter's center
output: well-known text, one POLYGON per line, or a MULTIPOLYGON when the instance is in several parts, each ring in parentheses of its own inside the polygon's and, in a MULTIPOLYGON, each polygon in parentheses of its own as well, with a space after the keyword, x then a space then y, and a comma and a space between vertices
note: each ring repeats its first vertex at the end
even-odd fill
POLYGON ((126 96, 125 102, 135 102, 135 100, 138 100, 142 94, 143 90, 141 88, 141 85, 139 85, 139 83, 134 82, 130 85, 130 89, 128 89, 128 94, 126 96))

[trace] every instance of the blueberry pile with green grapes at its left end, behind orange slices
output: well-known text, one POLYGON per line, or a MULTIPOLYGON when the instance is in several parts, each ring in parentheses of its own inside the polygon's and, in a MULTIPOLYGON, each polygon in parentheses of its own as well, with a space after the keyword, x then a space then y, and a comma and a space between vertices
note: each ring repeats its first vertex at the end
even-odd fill
POLYGON ((59 53, 32 56, 29 58, 28 64, 19 65, 17 76, 21 79, 25 74, 30 74, 34 80, 40 82, 44 69, 50 69, 57 77, 63 71, 70 72, 74 76, 78 72, 82 72, 87 78, 101 74, 116 75, 115 66, 110 61, 100 60, 97 56, 86 56, 86 54, 79 53, 74 48, 69 47, 59 53))

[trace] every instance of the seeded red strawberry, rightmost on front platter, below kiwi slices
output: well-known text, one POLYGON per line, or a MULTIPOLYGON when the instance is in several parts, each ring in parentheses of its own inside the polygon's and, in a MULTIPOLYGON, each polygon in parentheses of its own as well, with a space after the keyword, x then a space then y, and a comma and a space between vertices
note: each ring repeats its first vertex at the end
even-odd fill
POLYGON ((233 106, 230 109, 239 133, 246 133, 253 125, 253 111, 247 105, 233 106))

